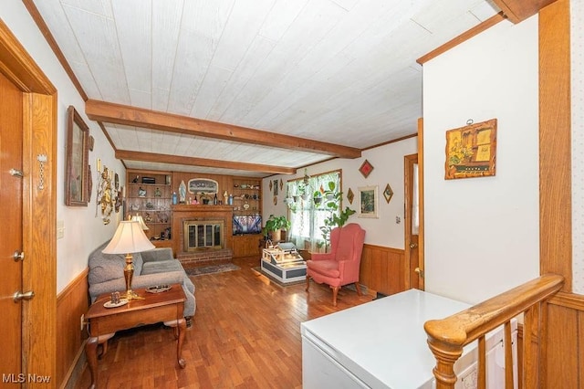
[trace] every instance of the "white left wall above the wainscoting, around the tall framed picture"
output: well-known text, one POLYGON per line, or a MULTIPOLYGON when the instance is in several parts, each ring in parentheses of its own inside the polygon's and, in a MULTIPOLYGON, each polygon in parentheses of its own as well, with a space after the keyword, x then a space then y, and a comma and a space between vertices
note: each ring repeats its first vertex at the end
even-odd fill
MULTIPOLYGON (((125 169, 120 161, 115 159, 110 142, 107 141, 98 124, 95 121, 89 121, 85 115, 84 101, 48 47, 45 38, 38 31, 25 5, 18 0, 3 1, 0 6, 0 18, 57 88, 57 220, 63 221, 65 226, 65 237, 57 240, 58 293, 87 268, 89 253, 113 236, 118 226, 117 217, 121 217, 121 214, 112 214, 110 224, 104 226, 101 219, 95 216, 95 197, 98 186, 96 159, 100 158, 102 165, 118 173, 121 183, 125 182, 125 169), (83 120, 89 125, 91 135, 95 138, 93 152, 89 152, 89 163, 94 176, 89 207, 65 205, 65 140, 69 105, 73 105, 78 110, 83 120)), ((47 258, 47 260, 55 260, 55 258, 47 258)))

